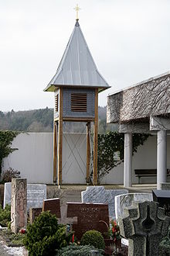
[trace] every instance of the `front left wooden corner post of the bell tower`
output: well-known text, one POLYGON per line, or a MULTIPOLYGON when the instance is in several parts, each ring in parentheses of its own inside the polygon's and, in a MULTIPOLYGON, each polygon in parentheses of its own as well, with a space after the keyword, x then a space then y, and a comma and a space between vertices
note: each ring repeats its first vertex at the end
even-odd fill
POLYGON ((58 185, 62 184, 63 88, 59 88, 58 185))

